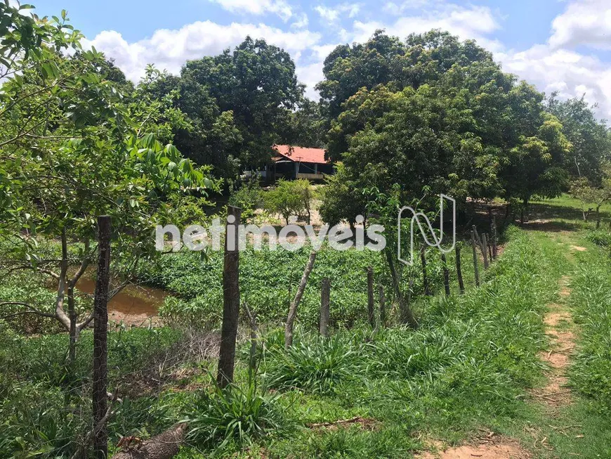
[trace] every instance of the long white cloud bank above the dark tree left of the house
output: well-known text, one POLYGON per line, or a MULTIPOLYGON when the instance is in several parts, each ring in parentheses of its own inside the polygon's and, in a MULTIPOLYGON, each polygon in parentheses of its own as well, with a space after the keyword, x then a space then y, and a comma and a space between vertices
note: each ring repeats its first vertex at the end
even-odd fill
POLYGON ((152 37, 128 43, 119 32, 100 32, 85 46, 96 46, 115 62, 126 76, 137 82, 144 75, 149 63, 178 74, 187 60, 221 53, 223 49, 235 46, 250 35, 254 39, 264 38, 270 44, 280 46, 295 56, 310 49, 320 41, 320 34, 308 30, 284 32, 265 24, 243 24, 233 22, 219 25, 215 22, 193 22, 179 30, 157 30, 152 37))

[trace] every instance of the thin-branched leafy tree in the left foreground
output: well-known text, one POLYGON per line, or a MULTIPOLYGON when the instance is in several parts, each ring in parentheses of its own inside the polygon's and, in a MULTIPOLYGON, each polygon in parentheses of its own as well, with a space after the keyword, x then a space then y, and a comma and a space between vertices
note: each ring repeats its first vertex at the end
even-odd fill
POLYGON ((57 51, 80 49, 80 34, 65 24, 65 12, 49 22, 7 5, 0 6, 0 17, 14 33, 6 35, 4 56, 11 59, 0 58, 6 66, 0 74, 0 237, 11 244, 0 271, 48 276, 57 297, 54 304, 9 299, 0 306, 19 305, 25 308, 20 313, 58 321, 70 333, 70 366, 80 332, 93 320, 91 310, 79 308, 75 289, 97 250, 96 217, 112 216, 115 253, 128 266, 119 277, 129 280, 138 260, 155 253, 152 226, 175 221, 168 202, 217 187, 206 177, 209 169, 197 169, 157 140, 169 126, 182 125, 182 117, 171 98, 151 103, 140 97, 139 90, 159 77, 154 69, 130 101, 106 78, 103 54, 57 51), (34 36, 17 33, 20 27, 34 36), (22 46, 30 41, 31 47, 22 46), (60 247, 44 243, 51 240, 60 247))

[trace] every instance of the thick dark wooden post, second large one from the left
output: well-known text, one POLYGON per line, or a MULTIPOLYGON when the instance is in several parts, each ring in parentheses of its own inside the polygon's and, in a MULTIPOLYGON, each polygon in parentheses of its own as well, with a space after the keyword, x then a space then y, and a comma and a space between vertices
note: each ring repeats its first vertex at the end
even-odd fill
POLYGON ((225 263, 223 265, 223 325, 221 347, 218 350, 218 386, 227 387, 233 381, 235 340, 239 317, 239 251, 238 231, 242 209, 228 207, 225 225, 225 263))

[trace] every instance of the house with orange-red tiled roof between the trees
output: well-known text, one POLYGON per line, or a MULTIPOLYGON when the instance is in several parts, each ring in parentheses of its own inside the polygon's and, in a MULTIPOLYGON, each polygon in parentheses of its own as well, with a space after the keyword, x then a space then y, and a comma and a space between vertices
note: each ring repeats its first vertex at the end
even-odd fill
POLYGON ((265 174, 271 180, 308 179, 322 180, 325 174, 333 174, 333 165, 324 159, 322 148, 303 148, 290 145, 275 145, 277 155, 266 167, 265 174))

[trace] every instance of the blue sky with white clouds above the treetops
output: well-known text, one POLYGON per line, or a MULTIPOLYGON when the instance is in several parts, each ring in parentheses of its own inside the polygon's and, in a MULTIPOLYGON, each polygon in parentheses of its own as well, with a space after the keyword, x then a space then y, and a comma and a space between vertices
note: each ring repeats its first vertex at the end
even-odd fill
POLYGON ((611 119, 611 0, 30 0, 39 15, 67 10, 72 25, 138 82, 154 63, 178 74, 191 59, 244 37, 288 51, 317 99, 322 63, 338 44, 376 29, 405 39, 441 28, 475 39, 506 72, 561 98, 584 96, 611 119))

